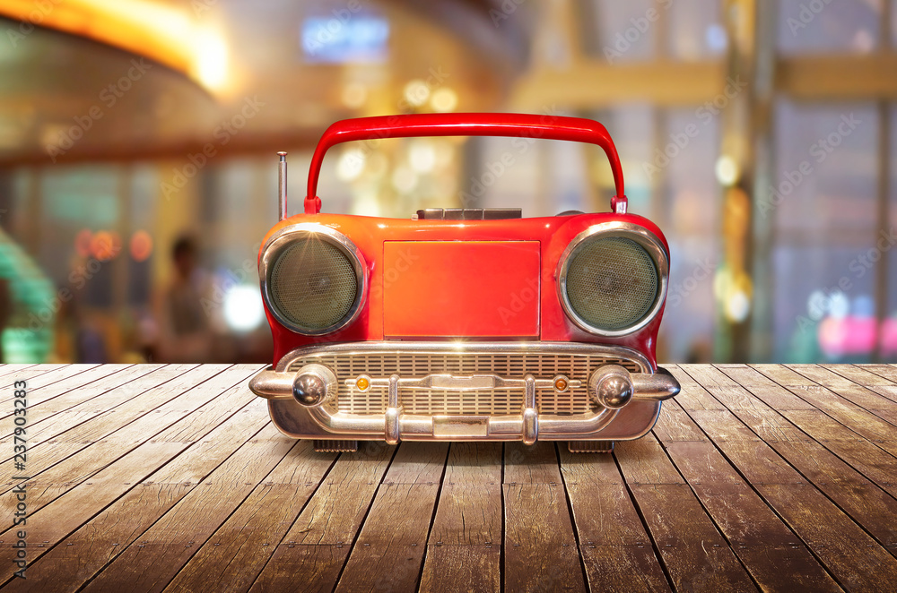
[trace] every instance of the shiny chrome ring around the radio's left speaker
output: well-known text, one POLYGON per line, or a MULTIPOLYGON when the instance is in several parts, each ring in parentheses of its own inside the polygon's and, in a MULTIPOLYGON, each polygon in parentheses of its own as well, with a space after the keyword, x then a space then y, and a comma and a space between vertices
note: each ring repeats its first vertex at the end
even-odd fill
POLYGON ((283 228, 277 234, 272 236, 265 247, 262 249, 261 259, 258 261, 258 279, 262 289, 262 298, 265 301, 265 307, 274 315, 274 319, 290 331, 295 331, 303 336, 322 336, 334 331, 339 331, 345 326, 358 319, 361 310, 364 308, 365 299, 368 294, 368 266, 361 250, 343 233, 335 228, 326 227, 317 223, 300 223, 290 227, 283 228), (287 318, 274 304, 274 296, 271 294, 271 272, 274 269, 274 263, 277 257, 283 251, 293 245, 296 241, 314 237, 321 241, 326 241, 330 245, 334 245, 339 249, 349 262, 352 263, 355 271, 356 293, 353 303, 348 311, 339 322, 336 322, 326 328, 309 329, 301 327, 287 318))

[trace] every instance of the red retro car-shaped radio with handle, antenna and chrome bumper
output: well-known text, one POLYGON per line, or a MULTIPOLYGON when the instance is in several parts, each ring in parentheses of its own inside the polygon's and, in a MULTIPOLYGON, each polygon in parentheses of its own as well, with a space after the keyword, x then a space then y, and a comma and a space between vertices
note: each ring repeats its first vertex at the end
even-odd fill
POLYGON ((289 218, 280 154, 281 221, 258 256, 274 365, 249 385, 284 434, 319 451, 539 439, 611 451, 646 434, 679 392, 655 360, 669 247, 626 211, 603 125, 516 114, 337 122, 311 160, 305 211, 289 218), (612 211, 321 213, 318 173, 335 144, 472 135, 597 144, 614 172, 612 211))

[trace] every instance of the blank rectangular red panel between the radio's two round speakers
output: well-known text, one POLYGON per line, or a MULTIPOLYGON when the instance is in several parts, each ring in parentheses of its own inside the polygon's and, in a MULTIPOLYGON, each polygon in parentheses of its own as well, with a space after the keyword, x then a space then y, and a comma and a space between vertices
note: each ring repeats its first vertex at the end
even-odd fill
POLYGON ((538 241, 386 241, 383 333, 536 337, 540 275, 538 241))

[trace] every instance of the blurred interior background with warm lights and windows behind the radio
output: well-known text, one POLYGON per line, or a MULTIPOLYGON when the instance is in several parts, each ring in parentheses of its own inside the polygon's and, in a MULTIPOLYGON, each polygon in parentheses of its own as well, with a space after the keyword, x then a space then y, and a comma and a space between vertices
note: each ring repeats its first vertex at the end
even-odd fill
MULTIPOLYGON (((897 0, 0 0, 6 362, 267 361, 257 250, 337 119, 602 122, 658 358, 897 361, 897 0)), ((594 147, 344 145, 324 211, 606 211, 594 147)))

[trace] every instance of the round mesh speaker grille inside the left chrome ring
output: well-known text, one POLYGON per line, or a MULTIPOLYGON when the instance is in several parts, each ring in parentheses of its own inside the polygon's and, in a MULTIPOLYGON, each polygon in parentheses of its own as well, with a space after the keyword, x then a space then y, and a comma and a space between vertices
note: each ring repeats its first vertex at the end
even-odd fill
POLYGON ((327 330, 353 314, 358 279, 342 249, 317 237, 277 256, 268 280, 277 311, 300 330, 327 330))

